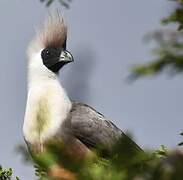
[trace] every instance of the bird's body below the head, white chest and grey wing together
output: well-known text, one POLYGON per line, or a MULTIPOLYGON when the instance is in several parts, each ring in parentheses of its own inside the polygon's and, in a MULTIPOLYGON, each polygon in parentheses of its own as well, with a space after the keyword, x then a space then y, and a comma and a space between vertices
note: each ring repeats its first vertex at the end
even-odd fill
POLYGON ((57 77, 29 87, 24 137, 36 152, 52 139, 80 141, 88 147, 110 147, 122 131, 102 114, 83 103, 72 102, 57 77), (35 148, 36 147, 36 148, 35 148))

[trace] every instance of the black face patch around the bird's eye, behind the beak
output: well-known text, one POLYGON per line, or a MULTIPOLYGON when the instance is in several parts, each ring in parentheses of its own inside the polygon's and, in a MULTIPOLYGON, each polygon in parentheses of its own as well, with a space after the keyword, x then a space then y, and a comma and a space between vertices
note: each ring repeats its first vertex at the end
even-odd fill
POLYGON ((60 61, 62 48, 48 47, 41 52, 43 64, 53 72, 58 72, 68 62, 60 61))

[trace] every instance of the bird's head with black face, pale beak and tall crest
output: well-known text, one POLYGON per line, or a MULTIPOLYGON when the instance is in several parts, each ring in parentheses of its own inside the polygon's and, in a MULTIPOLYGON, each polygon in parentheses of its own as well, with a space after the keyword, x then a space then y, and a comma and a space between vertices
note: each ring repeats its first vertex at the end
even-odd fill
POLYGON ((73 61, 66 50, 67 27, 59 13, 52 13, 37 32, 28 48, 29 65, 57 73, 73 61))

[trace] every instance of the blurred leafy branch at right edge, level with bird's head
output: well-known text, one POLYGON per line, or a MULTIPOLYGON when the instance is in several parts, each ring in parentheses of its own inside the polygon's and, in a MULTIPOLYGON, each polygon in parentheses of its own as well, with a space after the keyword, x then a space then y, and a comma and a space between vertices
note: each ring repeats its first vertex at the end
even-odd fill
POLYGON ((171 30, 156 31, 150 36, 157 47, 153 50, 156 58, 147 64, 132 68, 132 78, 155 75, 168 69, 171 74, 183 71, 183 32, 171 30))

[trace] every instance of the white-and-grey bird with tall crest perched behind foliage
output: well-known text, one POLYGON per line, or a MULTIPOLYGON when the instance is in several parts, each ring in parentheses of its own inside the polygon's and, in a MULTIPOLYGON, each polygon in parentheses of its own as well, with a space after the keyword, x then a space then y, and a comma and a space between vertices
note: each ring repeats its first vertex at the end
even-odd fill
MULTIPOLYGON (((27 49, 27 104, 23 136, 28 149, 45 151, 49 141, 63 142, 78 157, 98 145, 110 149, 125 133, 104 115, 72 101, 59 80, 74 62, 67 50, 67 26, 60 13, 50 14, 27 49)), ((132 140, 131 140, 132 141, 132 140)), ((134 148, 141 148, 132 141, 134 148)))

